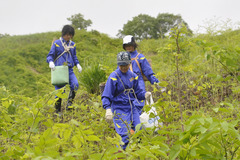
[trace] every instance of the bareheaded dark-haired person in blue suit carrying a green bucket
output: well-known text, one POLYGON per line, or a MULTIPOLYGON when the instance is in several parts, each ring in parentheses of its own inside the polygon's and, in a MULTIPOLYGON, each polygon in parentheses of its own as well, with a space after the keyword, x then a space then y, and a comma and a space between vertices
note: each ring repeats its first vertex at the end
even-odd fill
MULTIPOLYGON (((76 91, 79 87, 78 80, 73 72, 73 67, 77 66, 79 72, 82 71, 82 67, 76 55, 76 44, 71 41, 74 34, 74 28, 70 25, 65 25, 62 28, 62 36, 53 42, 50 52, 47 55, 47 62, 49 63, 49 67, 52 70, 55 70, 55 66, 61 66, 64 63, 68 64, 70 93, 66 106, 67 110, 70 109, 68 107, 72 105, 73 99, 76 95, 76 91)), ((55 86, 55 90, 58 90, 64 86, 55 86)), ((57 113, 61 112, 61 102, 62 99, 58 98, 55 103, 57 113)))

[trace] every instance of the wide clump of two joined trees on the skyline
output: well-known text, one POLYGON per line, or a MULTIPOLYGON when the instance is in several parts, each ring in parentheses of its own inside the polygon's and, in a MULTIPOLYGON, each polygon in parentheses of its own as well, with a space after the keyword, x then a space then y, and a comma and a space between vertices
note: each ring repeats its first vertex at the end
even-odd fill
POLYGON ((180 15, 162 13, 158 14, 157 18, 154 18, 146 14, 140 14, 124 24, 123 29, 119 30, 117 36, 122 38, 124 35, 130 34, 136 39, 164 38, 170 32, 171 28, 181 23, 192 33, 188 24, 180 15))

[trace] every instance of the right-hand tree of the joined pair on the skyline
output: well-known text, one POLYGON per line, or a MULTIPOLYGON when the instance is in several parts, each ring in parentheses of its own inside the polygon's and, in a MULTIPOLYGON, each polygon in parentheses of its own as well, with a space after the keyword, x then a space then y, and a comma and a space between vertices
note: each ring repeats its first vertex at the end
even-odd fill
POLYGON ((173 15, 170 13, 161 13, 158 14, 157 18, 157 34, 158 37, 164 38, 166 33, 169 33, 171 28, 183 23, 188 31, 192 33, 191 29, 189 28, 188 24, 182 19, 180 15, 173 15))

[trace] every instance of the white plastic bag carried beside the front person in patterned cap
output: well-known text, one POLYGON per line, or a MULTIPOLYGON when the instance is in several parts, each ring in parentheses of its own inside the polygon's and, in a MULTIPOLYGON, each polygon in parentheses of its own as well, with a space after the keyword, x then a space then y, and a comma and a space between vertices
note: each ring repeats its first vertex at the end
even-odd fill
POLYGON ((157 130, 159 129, 159 127, 163 126, 163 123, 159 123, 158 120, 160 119, 160 117, 157 115, 156 112, 156 108, 154 106, 152 106, 154 104, 152 95, 150 96, 148 102, 146 100, 146 104, 151 106, 151 109, 148 112, 143 112, 140 115, 140 122, 143 123, 143 127, 144 128, 153 128, 154 126, 157 127, 157 130), (149 118, 150 114, 153 113, 154 117, 153 118, 149 118))

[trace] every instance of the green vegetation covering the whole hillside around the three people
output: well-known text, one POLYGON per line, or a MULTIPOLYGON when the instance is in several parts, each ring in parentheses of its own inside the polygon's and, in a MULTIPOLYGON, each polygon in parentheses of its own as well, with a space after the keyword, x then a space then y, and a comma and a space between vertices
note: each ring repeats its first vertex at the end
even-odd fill
POLYGON ((0 38, 0 158, 240 159, 240 31, 188 34, 183 25, 165 39, 139 42, 138 50, 167 87, 161 93, 146 84, 164 125, 157 131, 138 129, 122 152, 116 147, 121 138, 105 121, 99 90, 94 90, 117 67, 120 39, 76 31, 80 88, 73 112, 64 110, 58 117, 54 96, 60 93, 50 84, 46 55, 60 33, 0 38), (89 76, 99 81, 91 86, 89 76))

